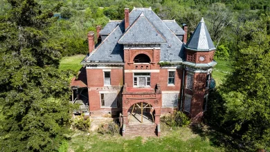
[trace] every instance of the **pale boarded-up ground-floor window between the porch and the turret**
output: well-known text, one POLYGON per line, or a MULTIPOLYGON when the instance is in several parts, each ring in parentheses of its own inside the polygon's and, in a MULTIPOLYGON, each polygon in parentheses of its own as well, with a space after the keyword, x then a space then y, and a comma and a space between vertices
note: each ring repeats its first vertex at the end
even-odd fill
POLYGON ((179 93, 163 93, 162 107, 177 107, 179 93))

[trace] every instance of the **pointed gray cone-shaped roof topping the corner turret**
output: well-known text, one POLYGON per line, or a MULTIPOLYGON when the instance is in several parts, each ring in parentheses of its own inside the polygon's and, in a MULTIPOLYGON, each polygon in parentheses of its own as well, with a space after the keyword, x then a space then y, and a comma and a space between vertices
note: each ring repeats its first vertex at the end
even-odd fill
POLYGON ((186 48, 197 51, 215 50, 213 41, 204 23, 204 18, 201 19, 190 39, 188 39, 186 48))

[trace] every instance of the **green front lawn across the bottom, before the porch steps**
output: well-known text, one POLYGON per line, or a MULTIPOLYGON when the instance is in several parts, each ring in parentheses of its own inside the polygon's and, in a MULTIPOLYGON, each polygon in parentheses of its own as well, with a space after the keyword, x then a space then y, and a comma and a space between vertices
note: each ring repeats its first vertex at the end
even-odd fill
POLYGON ((122 137, 96 132, 75 132, 69 141, 69 151, 224 151, 208 137, 192 133, 188 127, 163 131, 161 137, 122 137))

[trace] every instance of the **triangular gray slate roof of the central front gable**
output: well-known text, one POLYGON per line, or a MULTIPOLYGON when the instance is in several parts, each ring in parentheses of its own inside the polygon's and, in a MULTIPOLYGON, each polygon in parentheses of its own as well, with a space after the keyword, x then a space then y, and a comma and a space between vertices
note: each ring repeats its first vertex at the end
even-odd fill
POLYGON ((119 44, 161 44, 165 42, 166 40, 143 15, 143 12, 118 41, 119 44))

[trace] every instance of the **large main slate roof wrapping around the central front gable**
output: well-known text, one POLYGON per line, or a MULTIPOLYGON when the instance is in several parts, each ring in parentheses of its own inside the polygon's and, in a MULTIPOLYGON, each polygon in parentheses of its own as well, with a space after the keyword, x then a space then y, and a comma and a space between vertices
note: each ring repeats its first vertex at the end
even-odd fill
MULTIPOLYGON (((161 61, 171 61, 171 62, 182 62, 184 58, 184 45, 177 36, 170 30, 168 26, 162 21, 151 8, 134 8, 129 12, 129 25, 133 25, 133 22, 140 17, 143 13, 147 19, 148 26, 152 25, 156 33, 160 34, 160 37, 165 39, 165 43, 161 44, 161 61)), ((109 22, 111 23, 111 22, 109 22)), ((108 29, 114 27, 111 23, 108 29)), ((134 23, 136 25, 136 23, 134 23)), ((106 28, 106 26, 105 26, 106 28)), ((129 28, 128 28, 129 29, 129 28)), ((128 31, 127 29, 127 31, 128 31)), ((109 30, 104 30, 102 33, 109 30)), ((100 31, 101 32, 101 31, 100 31)), ((112 30, 108 37, 100 43, 99 46, 93 52, 84 59, 82 62, 93 62, 97 63, 108 63, 108 62, 122 62, 123 63, 123 44, 118 44, 118 40, 122 37, 125 32, 125 22, 121 21, 114 30, 112 30)), ((153 39, 156 35, 152 35, 149 39, 153 39)), ((160 43, 160 42, 159 42, 160 43)))

